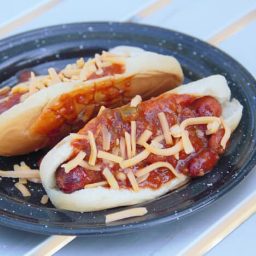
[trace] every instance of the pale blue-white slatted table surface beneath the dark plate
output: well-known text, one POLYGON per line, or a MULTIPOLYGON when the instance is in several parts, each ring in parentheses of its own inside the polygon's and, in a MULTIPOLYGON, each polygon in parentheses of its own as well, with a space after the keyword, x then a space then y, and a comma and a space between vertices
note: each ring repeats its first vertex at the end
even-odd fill
MULTIPOLYGON (((2 37, 38 27, 83 21, 136 21, 181 31, 208 40, 256 8, 255 0, 0 0, 0 33, 2 37), (50 7, 47 5, 50 4, 50 7), (160 5, 159 5, 160 4, 160 5), (153 6, 153 9, 152 9, 153 6), (161 8, 159 8, 159 6, 161 8), (15 8, 14 8, 15 7, 15 8), (145 10, 146 13, 142 13, 145 10), (38 8, 39 15, 31 15, 38 8), (27 19, 25 20, 24 17, 27 19), (28 19, 29 18, 29 19, 28 19), (18 25, 11 26, 14 21, 18 25), (10 29, 11 28, 11 29, 10 29)), ((217 46, 241 62, 256 75, 256 20, 240 24, 234 34, 217 46)), ((142 229, 136 233, 79 237, 63 247, 56 255, 176 255, 189 248, 202 234, 229 214, 246 198, 255 196, 256 170, 236 188, 202 211, 177 222, 142 229), (125 248, 125 249, 124 249, 125 248)), ((208 255, 255 255, 256 214, 240 225, 208 255)), ((43 242, 48 236, 18 231, 0 226, 1 255, 22 255, 43 242)))

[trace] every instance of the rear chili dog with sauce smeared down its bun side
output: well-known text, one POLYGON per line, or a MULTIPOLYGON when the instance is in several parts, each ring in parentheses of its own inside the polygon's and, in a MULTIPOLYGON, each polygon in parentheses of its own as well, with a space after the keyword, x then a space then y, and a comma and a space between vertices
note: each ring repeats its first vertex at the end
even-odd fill
POLYGON ((136 94, 147 99, 183 82, 173 57, 125 49, 121 47, 123 55, 113 49, 87 62, 80 59, 59 74, 54 69, 43 77, 32 73, 30 82, 0 89, 0 155, 54 146, 82 128, 102 105, 119 107, 136 94))

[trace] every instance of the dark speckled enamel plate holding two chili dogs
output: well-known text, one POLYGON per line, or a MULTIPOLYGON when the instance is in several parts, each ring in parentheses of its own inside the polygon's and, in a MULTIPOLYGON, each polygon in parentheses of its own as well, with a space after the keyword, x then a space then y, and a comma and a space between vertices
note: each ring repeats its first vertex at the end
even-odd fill
MULTIPOLYGON (((243 105, 240 125, 231 137, 228 152, 213 171, 159 199, 142 203, 143 217, 105 224, 104 216, 117 209, 99 212, 61 211, 42 205, 42 185, 29 183, 31 197, 22 197, 15 180, 0 181, 0 223, 12 228, 42 234, 98 235, 128 232, 158 223, 170 222, 200 210, 223 196, 247 176, 255 164, 255 80, 245 68, 213 46, 185 34, 162 28, 120 23, 85 23, 54 26, 9 37, 0 42, 0 87, 14 85, 24 70, 46 74, 49 67, 61 69, 78 57, 116 45, 133 45, 156 53, 173 55, 181 63, 185 83, 223 74, 232 96, 243 105)), ((1 143, 1 142, 0 142, 1 143)), ((45 152, 24 156, 0 157, 0 169, 11 170, 25 161, 31 167, 45 152)), ((232 192, 231 192, 232 193, 232 192)), ((121 207, 125 209, 129 207, 121 207)))

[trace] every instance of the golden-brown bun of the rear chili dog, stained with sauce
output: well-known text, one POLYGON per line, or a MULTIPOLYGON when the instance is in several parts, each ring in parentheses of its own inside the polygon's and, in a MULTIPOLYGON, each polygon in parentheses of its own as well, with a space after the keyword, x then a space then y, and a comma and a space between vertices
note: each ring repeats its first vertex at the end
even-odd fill
MULTIPOLYGON (((129 102, 136 94, 147 99, 175 88, 182 82, 182 69, 176 59, 137 51, 135 56, 127 57, 123 74, 109 75, 86 82, 59 83, 42 89, 0 115, 0 155, 26 154, 53 144, 47 132, 38 131, 38 126, 43 124, 48 130, 51 128, 51 117, 45 118, 45 113, 54 108, 60 97, 65 94, 68 94, 69 100, 83 92, 91 95, 90 103, 84 101, 78 104, 77 119, 74 121, 78 122, 79 114, 85 113, 90 107, 95 108, 96 113, 101 105, 109 108, 118 107, 129 102), (107 91, 106 95, 102 96, 102 93, 98 93, 102 91, 107 91), (107 95, 108 92, 110 96, 107 95)), ((54 124, 54 121, 51 121, 54 124)), ((67 122, 65 119, 65 122, 57 128, 57 135, 55 134, 54 137, 61 139, 67 136, 71 132, 72 125, 71 121, 67 122)), ((54 132, 56 133, 56 129, 54 132)))

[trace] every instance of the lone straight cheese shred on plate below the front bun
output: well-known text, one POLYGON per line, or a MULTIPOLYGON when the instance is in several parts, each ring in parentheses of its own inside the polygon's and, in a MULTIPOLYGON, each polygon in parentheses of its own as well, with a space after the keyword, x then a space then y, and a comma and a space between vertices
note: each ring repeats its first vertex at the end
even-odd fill
POLYGON ((148 212, 146 207, 132 208, 120 212, 106 215, 106 223, 115 222, 116 220, 126 219, 130 217, 143 216, 148 212))

